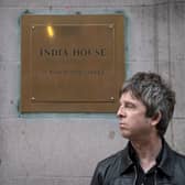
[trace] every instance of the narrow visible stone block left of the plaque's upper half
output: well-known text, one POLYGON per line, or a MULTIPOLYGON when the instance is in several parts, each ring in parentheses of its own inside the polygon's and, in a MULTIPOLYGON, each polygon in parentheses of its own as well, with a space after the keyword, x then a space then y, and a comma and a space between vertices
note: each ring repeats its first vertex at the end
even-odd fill
POLYGON ((0 8, 0 62, 20 61, 20 15, 22 11, 21 9, 0 8))

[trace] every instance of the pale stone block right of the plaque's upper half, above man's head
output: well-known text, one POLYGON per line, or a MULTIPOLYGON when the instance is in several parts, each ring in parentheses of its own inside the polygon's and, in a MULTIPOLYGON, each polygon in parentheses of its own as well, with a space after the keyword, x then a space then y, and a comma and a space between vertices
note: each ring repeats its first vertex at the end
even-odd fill
POLYGON ((131 7, 124 9, 126 58, 129 62, 154 62, 154 9, 131 7))

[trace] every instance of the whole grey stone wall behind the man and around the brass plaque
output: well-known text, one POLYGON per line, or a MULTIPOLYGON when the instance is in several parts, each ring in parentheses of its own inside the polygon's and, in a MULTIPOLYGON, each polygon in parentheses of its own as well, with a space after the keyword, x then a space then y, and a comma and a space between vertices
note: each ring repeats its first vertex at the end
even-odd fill
POLYGON ((0 0, 0 185, 87 185, 123 148, 113 113, 25 113, 20 105, 20 17, 123 13, 127 77, 151 70, 177 95, 168 143, 185 153, 185 1, 0 0))

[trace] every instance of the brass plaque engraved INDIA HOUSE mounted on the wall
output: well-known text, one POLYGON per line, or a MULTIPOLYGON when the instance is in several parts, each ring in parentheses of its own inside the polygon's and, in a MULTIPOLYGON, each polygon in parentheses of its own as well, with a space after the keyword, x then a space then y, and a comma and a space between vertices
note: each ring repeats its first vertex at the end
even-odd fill
POLYGON ((123 17, 23 15, 21 112, 115 112, 123 17))

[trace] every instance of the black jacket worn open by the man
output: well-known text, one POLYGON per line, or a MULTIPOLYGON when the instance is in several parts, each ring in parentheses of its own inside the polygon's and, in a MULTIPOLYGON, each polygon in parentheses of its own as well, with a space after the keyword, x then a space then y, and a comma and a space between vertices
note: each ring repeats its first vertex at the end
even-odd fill
MULTIPOLYGON (((99 162, 90 185, 134 185, 137 167, 128 148, 99 162)), ((173 151, 165 141, 154 181, 155 185, 185 185, 185 156, 173 151)))

